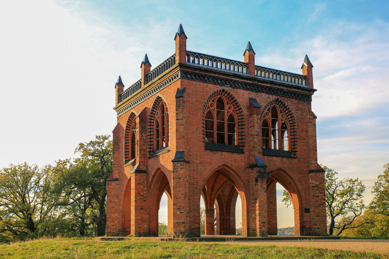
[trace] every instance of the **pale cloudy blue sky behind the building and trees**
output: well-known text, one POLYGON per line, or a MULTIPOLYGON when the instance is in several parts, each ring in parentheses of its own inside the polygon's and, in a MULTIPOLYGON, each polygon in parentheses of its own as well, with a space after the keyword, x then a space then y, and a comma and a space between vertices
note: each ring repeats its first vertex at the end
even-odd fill
MULTIPOLYGON (((295 73, 308 54, 318 162, 362 180, 369 203, 389 163, 388 12, 385 0, 1 1, 0 168, 110 134, 119 74, 130 86, 144 53, 153 67, 173 54, 182 23, 196 52, 243 61, 250 41, 257 65, 295 73)), ((279 226, 293 225, 278 194, 279 226)))

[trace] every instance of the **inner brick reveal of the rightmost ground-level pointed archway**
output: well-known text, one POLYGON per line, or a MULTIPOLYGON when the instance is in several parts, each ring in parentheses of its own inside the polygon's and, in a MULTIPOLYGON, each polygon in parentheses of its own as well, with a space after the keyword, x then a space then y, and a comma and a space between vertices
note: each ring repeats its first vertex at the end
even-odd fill
MULTIPOLYGON (((288 173, 282 170, 276 170, 270 175, 266 185, 267 195, 267 226, 269 235, 278 234, 278 217, 277 217, 277 190, 276 186, 280 184, 290 195, 293 204, 293 216, 295 236, 301 235, 301 195, 298 186, 289 176, 288 173)), ((281 194, 282 195, 282 194, 281 194)))

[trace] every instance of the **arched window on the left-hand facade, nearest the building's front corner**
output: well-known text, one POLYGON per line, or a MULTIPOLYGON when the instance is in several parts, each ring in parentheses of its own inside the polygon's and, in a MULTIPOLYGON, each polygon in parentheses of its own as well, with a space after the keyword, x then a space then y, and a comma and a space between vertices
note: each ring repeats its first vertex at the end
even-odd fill
POLYGON ((155 113, 154 120, 154 150, 169 145, 169 112, 164 102, 161 102, 155 113))

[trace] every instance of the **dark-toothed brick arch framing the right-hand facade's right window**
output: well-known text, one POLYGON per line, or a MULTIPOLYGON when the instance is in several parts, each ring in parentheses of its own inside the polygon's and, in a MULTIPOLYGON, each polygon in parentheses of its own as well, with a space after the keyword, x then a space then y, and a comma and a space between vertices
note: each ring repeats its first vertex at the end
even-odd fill
POLYGON ((261 121, 264 120, 264 116, 265 116, 265 111, 270 107, 270 106, 273 106, 274 104, 278 105, 281 109, 283 109, 283 111, 285 112, 286 114, 286 117, 288 118, 288 121, 289 121, 289 127, 290 127, 290 133, 289 133, 289 136, 290 136, 290 144, 291 144, 291 152, 292 153, 296 153, 297 152, 297 123, 296 123, 296 119, 293 115, 293 112, 292 110, 290 109, 289 105, 287 103, 285 103, 283 100, 281 100, 280 98, 276 97, 272 100, 270 100, 266 105, 265 107, 262 109, 262 113, 261 113, 261 121))

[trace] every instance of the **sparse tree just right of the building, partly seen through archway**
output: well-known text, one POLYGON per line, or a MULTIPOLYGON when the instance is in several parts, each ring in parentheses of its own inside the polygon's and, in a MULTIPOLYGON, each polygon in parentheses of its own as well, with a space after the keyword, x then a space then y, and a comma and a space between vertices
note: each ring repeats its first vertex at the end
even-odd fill
MULTIPOLYGON (((338 174, 334 169, 323 166, 325 171, 325 202, 327 219, 330 222, 329 234, 340 235, 345 229, 357 228, 367 222, 353 224, 359 217, 365 205, 363 204, 363 192, 365 186, 361 181, 352 178, 338 180, 338 174)), ((292 204, 292 199, 287 191, 283 192, 283 202, 286 206, 292 204)))

